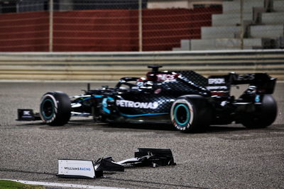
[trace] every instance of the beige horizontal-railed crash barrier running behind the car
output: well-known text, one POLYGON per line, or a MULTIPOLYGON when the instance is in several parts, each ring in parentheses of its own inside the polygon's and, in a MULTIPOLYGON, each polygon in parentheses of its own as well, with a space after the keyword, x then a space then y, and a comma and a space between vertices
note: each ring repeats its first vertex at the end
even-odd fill
POLYGON ((119 80, 145 77, 147 65, 202 75, 267 72, 284 80, 284 50, 148 53, 0 53, 0 80, 119 80))

